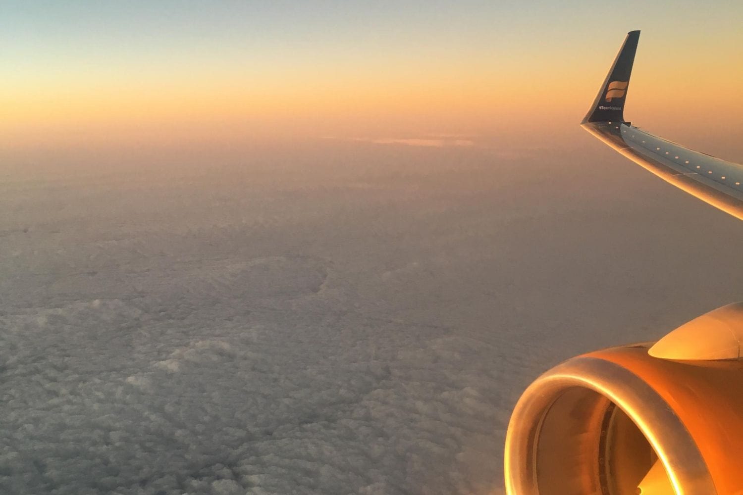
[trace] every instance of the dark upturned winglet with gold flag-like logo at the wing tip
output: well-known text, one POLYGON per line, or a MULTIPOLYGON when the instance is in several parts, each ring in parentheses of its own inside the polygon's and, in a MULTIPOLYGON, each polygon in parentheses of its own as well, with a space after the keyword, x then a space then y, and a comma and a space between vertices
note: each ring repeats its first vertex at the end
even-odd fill
POLYGON ((585 114, 583 122, 624 122, 624 101, 629 86, 629 76, 632 74, 632 63, 635 62, 637 40, 640 31, 630 31, 611 65, 609 74, 596 95, 594 104, 585 114))

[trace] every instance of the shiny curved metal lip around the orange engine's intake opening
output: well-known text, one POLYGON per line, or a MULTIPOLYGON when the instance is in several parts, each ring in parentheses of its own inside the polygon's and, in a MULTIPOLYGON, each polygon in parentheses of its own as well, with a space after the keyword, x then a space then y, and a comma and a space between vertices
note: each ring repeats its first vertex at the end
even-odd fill
POLYGON ((559 396, 574 387, 606 397, 632 419, 661 459, 676 495, 717 494, 704 457, 669 404, 635 373, 587 356, 549 370, 517 402, 504 452, 507 494, 539 495, 536 447, 542 421, 559 396))

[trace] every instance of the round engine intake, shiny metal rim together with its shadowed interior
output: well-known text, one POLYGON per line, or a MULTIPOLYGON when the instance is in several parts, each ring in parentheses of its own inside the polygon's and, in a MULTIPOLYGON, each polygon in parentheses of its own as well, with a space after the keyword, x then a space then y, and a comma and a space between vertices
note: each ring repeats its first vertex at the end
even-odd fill
MULTIPOLYGON (((654 359, 646 347, 621 351, 654 359)), ((508 426, 505 473, 512 495, 717 493, 663 397, 626 367, 591 355, 565 361, 522 395, 508 426)))

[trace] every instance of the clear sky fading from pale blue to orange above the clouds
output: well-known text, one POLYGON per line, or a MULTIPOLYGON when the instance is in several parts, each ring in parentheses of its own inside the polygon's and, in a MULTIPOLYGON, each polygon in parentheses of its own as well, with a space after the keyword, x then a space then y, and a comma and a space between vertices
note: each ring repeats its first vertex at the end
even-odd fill
POLYGON ((692 120, 727 139, 743 114, 742 10, 736 1, 3 1, 0 145, 427 134, 525 145, 545 131, 574 144, 574 129, 554 125, 580 121, 634 29, 643 34, 629 115, 692 120))

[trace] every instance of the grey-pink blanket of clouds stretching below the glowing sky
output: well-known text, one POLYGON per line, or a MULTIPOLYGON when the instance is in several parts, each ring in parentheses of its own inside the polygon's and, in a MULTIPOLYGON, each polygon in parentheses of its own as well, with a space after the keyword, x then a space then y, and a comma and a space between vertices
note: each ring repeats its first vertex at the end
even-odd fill
POLYGON ((498 494, 540 371, 739 298, 640 171, 373 148, 0 186, 0 491, 498 494))

